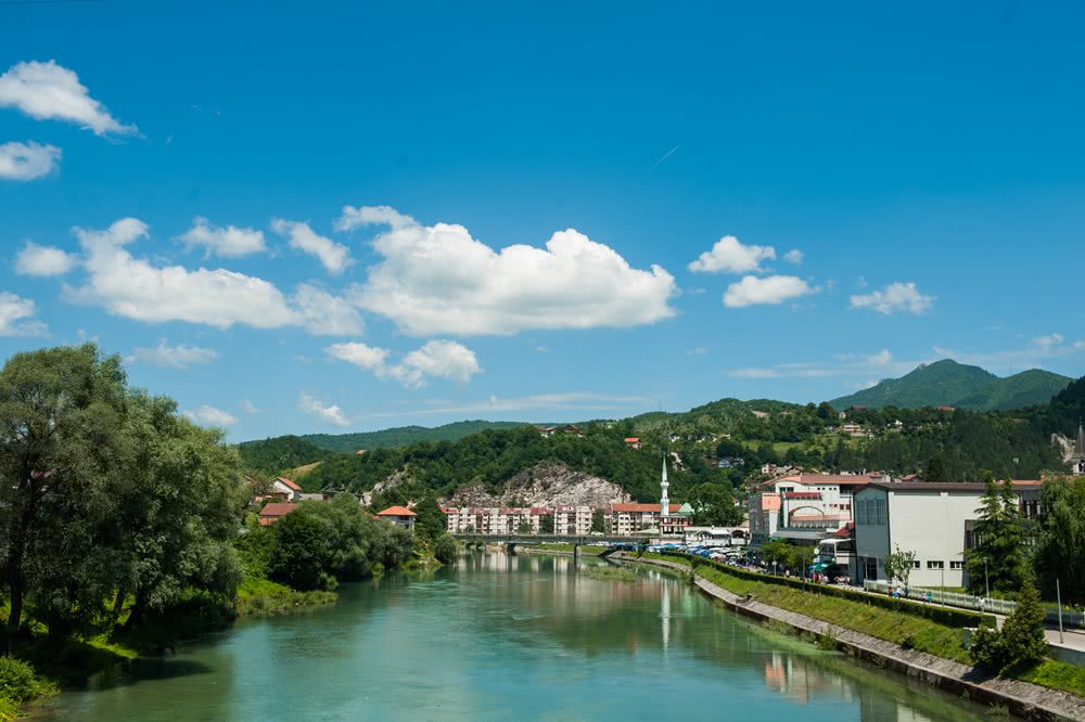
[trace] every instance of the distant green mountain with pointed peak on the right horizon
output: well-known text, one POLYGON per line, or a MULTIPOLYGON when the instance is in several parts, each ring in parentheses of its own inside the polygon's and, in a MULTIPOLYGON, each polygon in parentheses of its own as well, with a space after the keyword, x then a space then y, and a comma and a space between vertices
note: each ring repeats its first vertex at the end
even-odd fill
POLYGON ((868 389, 833 399, 834 409, 864 405, 954 407, 969 411, 1005 411, 1047 403, 1071 379, 1041 369, 1000 378, 979 366, 949 359, 922 364, 901 378, 886 378, 868 389))

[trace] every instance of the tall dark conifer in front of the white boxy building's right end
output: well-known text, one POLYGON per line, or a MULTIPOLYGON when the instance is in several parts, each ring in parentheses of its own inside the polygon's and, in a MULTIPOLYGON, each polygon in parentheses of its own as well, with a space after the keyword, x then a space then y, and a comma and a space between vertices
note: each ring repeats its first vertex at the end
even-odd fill
POLYGON ((1017 495, 1009 481, 987 481, 973 528, 973 546, 965 553, 970 570, 969 591, 985 593, 986 581, 976 573, 986 568, 992 589, 1013 591, 1031 577, 1025 557, 1024 527, 1017 495))

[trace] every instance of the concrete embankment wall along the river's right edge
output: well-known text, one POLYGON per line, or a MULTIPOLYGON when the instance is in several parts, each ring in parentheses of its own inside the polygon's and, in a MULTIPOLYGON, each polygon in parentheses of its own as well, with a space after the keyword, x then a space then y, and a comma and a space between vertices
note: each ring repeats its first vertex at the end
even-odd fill
MULTIPOLYGON (((638 558, 629 554, 614 554, 612 559, 648 564, 682 573, 689 567, 660 559, 638 558)), ((831 636, 841 649, 910 678, 921 680, 954 694, 968 694, 969 699, 988 705, 1005 705, 1010 712, 1027 720, 1085 720, 1085 698, 1036 684, 990 678, 974 667, 942 659, 923 652, 904 647, 855 632, 843 627, 774 607, 756 599, 746 599, 698 576, 697 586, 728 608, 754 619, 775 619, 796 630, 818 636, 831 636)))

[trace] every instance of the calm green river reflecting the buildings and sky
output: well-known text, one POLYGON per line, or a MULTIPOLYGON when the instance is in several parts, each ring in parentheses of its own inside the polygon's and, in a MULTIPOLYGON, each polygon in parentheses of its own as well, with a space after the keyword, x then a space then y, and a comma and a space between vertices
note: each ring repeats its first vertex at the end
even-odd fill
POLYGON ((344 585, 59 695, 47 720, 981 720, 719 608, 676 577, 474 554, 344 585))

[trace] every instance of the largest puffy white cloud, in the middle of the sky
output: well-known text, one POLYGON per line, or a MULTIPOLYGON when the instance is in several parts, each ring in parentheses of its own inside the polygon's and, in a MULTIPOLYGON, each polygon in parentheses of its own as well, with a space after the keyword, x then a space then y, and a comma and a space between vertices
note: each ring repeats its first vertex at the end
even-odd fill
POLYGON ((369 222, 392 229, 373 242, 383 260, 369 269, 357 302, 411 335, 625 327, 675 314, 669 273, 630 268, 575 230, 554 233, 546 248, 495 252, 462 225, 423 227, 386 207, 348 207, 339 225, 369 222))

